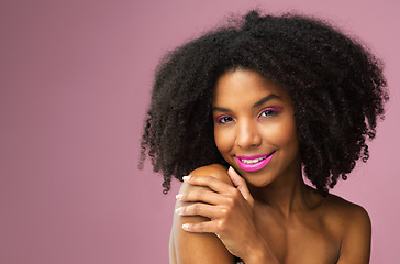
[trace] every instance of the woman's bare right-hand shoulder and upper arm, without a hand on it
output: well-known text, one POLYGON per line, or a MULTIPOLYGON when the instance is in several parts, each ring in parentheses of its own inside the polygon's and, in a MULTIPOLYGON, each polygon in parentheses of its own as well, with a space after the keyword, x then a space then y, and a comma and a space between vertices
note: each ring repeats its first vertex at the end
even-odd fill
POLYGON ((329 195, 322 206, 324 221, 341 241, 337 263, 369 263, 371 223, 368 212, 335 195, 329 195))

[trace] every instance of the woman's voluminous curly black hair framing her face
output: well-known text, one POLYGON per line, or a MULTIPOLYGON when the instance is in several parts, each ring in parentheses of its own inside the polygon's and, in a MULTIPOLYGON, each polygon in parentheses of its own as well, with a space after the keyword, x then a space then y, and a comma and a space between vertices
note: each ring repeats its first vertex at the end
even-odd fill
POLYGON ((214 143, 211 107, 216 80, 236 68, 290 92, 303 172, 321 194, 368 160, 366 139, 375 138, 389 98, 382 63, 322 20, 251 11, 177 47, 157 68, 140 167, 148 152, 165 194, 173 176, 227 165, 214 143))

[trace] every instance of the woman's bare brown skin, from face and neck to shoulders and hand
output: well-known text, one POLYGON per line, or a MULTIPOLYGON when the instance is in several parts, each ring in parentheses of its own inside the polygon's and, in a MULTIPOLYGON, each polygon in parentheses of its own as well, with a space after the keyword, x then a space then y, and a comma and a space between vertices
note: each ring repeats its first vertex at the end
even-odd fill
POLYGON ((303 183, 289 94, 236 69, 219 79, 213 107, 215 144, 232 167, 213 164, 185 177, 170 263, 232 264, 234 256, 246 264, 369 263, 367 212, 303 183), (256 172, 243 170, 236 160, 271 152, 256 172))

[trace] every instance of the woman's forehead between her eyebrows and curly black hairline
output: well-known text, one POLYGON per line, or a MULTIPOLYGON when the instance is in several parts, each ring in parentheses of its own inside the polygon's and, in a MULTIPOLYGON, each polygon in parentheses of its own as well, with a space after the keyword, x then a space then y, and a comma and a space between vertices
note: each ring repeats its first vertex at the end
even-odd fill
POLYGON ((264 78, 257 72, 235 69, 223 74, 216 81, 213 105, 234 103, 235 101, 257 101, 269 95, 291 102, 289 92, 264 78))

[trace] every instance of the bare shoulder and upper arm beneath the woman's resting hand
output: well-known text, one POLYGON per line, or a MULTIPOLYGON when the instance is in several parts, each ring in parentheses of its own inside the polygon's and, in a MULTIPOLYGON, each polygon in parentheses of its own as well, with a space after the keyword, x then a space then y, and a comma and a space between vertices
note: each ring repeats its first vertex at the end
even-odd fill
MULTIPOLYGON (((192 176, 211 176, 226 184, 232 184, 226 167, 212 164, 199 167, 190 173, 192 176)), ((179 194, 190 193, 196 189, 208 189, 202 186, 192 186, 182 183, 179 194)), ((176 202, 176 208, 188 206, 192 202, 176 202)), ((200 216, 182 217, 174 215, 171 238, 169 242, 170 263, 233 263, 232 254, 226 250, 221 240, 212 233, 189 233, 181 226, 184 223, 203 222, 209 219, 200 216)))

